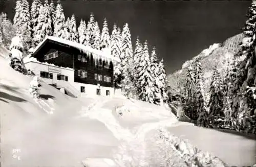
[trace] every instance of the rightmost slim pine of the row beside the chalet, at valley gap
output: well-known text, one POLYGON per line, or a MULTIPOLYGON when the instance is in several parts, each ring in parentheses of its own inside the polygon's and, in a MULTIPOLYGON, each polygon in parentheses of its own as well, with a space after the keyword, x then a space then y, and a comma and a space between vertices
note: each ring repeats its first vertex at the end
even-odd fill
POLYGON ((166 94, 167 77, 166 77, 166 71, 165 71, 164 64, 163 64, 163 59, 161 59, 161 61, 159 62, 158 70, 159 70, 158 71, 158 79, 159 79, 160 83, 158 83, 157 85, 160 89, 163 102, 166 102, 168 99, 168 96, 166 94))

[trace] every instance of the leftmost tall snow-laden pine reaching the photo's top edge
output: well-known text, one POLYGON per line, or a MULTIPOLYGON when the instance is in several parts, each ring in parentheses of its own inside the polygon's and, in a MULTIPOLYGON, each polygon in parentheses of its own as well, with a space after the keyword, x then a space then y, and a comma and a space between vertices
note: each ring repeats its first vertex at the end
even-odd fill
POLYGON ((31 46, 31 22, 30 9, 27 0, 17 1, 14 15, 14 26, 17 33, 22 35, 22 42, 24 42, 24 51, 26 52, 31 46))

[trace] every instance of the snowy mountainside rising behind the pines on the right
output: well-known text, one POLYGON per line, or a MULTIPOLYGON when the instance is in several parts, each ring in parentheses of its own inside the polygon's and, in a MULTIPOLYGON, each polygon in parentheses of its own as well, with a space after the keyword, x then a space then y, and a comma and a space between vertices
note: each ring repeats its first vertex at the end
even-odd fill
POLYGON ((215 43, 209 46, 208 49, 203 50, 193 59, 186 61, 180 70, 168 75, 169 85, 172 90, 177 92, 181 90, 181 87, 183 87, 185 84, 187 68, 190 65, 193 66, 196 60, 198 60, 201 62, 202 71, 205 78, 205 92, 208 92, 214 67, 217 66, 221 73, 223 72, 223 69, 225 69, 227 65, 227 59, 236 56, 236 54, 241 52, 241 47, 239 44, 242 42, 243 36, 243 34, 238 34, 228 38, 222 43, 215 43))

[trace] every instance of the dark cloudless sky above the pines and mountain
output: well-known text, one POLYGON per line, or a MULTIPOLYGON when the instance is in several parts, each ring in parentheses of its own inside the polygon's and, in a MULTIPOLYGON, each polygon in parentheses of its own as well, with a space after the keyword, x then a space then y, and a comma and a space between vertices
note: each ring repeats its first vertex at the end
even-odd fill
MULTIPOLYGON (((0 12, 13 19, 15 1, 0 1, 0 12)), ((29 1, 31 4, 31 0, 29 1)), ((188 59, 212 43, 219 43, 242 31, 251 1, 61 1, 65 16, 89 20, 93 12, 102 28, 103 18, 122 28, 129 23, 133 44, 136 36, 156 46, 167 74, 180 69, 188 59)))

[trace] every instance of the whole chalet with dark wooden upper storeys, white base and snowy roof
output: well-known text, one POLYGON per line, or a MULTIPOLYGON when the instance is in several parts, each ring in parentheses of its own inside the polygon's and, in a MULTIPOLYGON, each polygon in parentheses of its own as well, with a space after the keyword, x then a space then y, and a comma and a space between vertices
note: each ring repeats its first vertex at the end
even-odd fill
POLYGON ((47 36, 35 47, 25 66, 70 96, 113 96, 113 64, 118 61, 108 50, 47 36))

